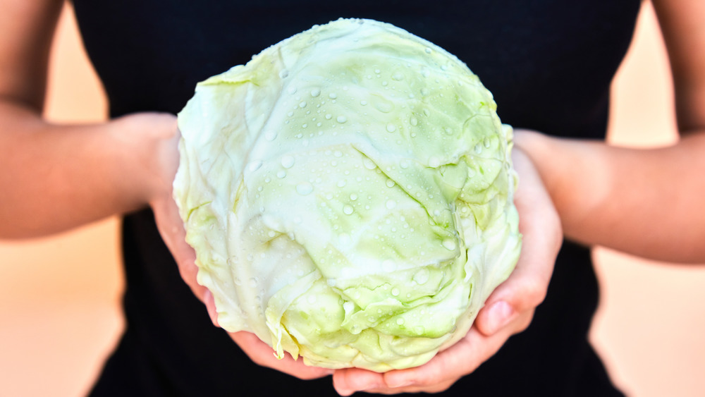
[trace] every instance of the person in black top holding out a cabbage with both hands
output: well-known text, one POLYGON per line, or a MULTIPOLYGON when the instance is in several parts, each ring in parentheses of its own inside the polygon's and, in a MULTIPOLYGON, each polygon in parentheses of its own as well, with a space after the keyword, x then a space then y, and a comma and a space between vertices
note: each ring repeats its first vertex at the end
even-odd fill
POLYGON ((630 41, 638 1, 331 6, 320 1, 76 0, 87 50, 113 116, 93 126, 42 121, 47 52, 62 1, 27 3, 4 1, 0 23, 0 181, 13 186, 0 192, 0 233, 39 236, 126 214, 128 326, 93 391, 96 396, 333 393, 330 379, 312 380, 328 371, 276 361, 271 349, 250 334, 231 335, 262 367, 252 365, 227 334, 210 324, 193 297, 214 313, 209 293, 195 283, 193 253, 183 243, 171 200, 178 162, 172 114, 197 81, 244 63, 314 23, 339 17, 384 20, 448 49, 494 92, 505 123, 541 133, 515 135, 524 252, 477 325, 458 345, 417 369, 337 371, 338 393, 619 395, 586 340, 597 298, 589 251, 570 241, 671 261, 705 257, 699 244, 705 219, 697 200, 705 186, 696 174, 705 161, 697 156, 705 145, 699 133, 705 126, 701 1, 654 1, 684 137, 673 147, 649 151, 615 149, 596 140, 603 137, 609 83, 630 41), (666 183, 682 189, 668 197, 660 189, 666 183), (670 204, 674 200, 678 206, 670 204), (669 216, 658 230, 644 233, 651 222, 645 224, 643 214, 658 212, 664 202, 669 216), (551 276, 561 226, 568 240, 551 276))

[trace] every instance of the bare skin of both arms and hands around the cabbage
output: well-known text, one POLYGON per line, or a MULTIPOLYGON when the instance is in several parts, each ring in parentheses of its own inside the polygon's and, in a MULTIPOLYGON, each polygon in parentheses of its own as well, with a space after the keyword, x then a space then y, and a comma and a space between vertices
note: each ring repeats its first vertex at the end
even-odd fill
MULTIPOLYGON (((0 189, 0 238, 44 236, 151 206, 184 281, 217 324, 212 296, 195 281, 195 254, 184 242, 171 200, 176 118, 142 113, 82 126, 42 119, 47 59, 62 5, 0 1, 0 185, 12 187, 0 189)), ((705 262, 699 200, 705 193, 699 175, 705 169, 699 156, 705 150, 705 2, 654 0, 654 6, 673 68, 682 139, 672 147, 637 150, 517 131, 522 256, 462 341, 422 367, 384 374, 276 360, 269 346, 245 332, 231 334, 235 343, 258 365, 295 377, 332 374, 343 396, 362 390, 438 392, 528 326, 546 293, 563 232, 580 243, 643 257, 705 262)))

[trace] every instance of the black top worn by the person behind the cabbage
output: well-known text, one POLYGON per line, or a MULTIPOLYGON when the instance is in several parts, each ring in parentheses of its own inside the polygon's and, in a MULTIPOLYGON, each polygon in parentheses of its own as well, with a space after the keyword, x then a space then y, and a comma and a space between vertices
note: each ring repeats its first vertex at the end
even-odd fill
MULTIPOLYGON (((338 18, 404 28, 465 61, 504 123, 603 138, 608 90, 639 0, 74 0, 111 116, 176 113, 195 84, 338 18)), ((334 396, 329 378, 257 367, 212 326, 149 210, 125 216, 127 328, 95 396, 334 396)), ((619 396, 587 341, 598 286, 589 250, 565 243, 527 331, 443 395, 619 396)))

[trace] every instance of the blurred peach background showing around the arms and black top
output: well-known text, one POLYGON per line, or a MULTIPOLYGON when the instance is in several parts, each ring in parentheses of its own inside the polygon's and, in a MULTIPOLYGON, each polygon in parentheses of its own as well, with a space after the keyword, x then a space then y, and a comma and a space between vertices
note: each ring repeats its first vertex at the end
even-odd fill
MULTIPOLYGON (((68 6, 67 6, 68 9, 68 6)), ((100 121, 106 103, 64 13, 52 57, 47 117, 100 121)), ((651 7, 615 83, 610 139, 675 140, 668 63, 651 7)), ((671 187, 667 187, 671 188, 671 187)), ((118 221, 31 241, 0 241, 0 396, 80 396, 120 334, 118 221)), ((591 332, 631 396, 705 393, 705 268, 596 249, 603 298, 591 332)))

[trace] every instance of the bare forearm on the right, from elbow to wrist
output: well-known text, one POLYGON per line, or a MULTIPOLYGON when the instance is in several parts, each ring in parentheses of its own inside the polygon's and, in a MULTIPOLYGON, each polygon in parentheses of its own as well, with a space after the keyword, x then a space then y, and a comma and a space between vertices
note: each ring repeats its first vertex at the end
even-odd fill
POLYGON ((517 133, 516 140, 537 164, 567 238, 651 259, 705 262, 705 133, 660 149, 535 133, 517 133))

